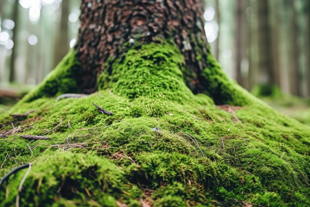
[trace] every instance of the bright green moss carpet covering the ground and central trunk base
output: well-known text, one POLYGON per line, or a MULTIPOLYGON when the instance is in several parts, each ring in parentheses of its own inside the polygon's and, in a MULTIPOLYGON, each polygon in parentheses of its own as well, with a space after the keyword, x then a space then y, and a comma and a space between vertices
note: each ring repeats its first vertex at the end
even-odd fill
POLYGON ((51 95, 45 83, 56 81, 50 76, 0 116, 0 133, 9 135, 0 139, 0 176, 33 163, 21 192, 26 170, 0 187, 0 206, 15 206, 17 194, 25 207, 310 206, 310 128, 208 61, 209 96, 186 87, 183 58, 170 44, 131 49, 86 97, 43 97, 51 95), (216 106, 215 98, 244 106, 216 106), (45 133, 50 139, 16 136, 45 133))

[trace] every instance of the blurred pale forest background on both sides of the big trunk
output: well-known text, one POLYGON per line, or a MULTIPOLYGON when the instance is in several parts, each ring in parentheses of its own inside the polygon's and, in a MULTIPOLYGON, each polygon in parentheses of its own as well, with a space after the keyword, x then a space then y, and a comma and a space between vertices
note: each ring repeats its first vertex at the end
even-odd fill
MULTIPOLYGON (((74 46, 79 5, 0 0, 0 98, 40 83, 74 46)), ((310 124, 310 0, 206 0, 204 19, 213 55, 231 78, 310 124)))

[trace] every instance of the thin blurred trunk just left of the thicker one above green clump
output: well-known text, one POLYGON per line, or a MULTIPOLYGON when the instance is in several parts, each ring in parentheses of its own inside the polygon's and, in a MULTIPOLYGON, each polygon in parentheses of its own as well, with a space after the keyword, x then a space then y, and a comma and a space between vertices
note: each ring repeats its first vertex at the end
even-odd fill
POLYGON ((237 0, 236 7, 236 80, 243 86, 243 78, 241 73, 241 61, 242 61, 242 40, 243 40, 243 29, 242 29, 242 2, 237 0))

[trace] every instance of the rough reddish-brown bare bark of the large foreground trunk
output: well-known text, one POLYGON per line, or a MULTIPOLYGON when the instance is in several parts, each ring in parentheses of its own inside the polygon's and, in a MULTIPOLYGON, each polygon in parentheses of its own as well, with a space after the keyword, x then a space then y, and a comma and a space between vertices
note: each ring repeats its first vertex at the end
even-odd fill
POLYGON ((96 89, 98 74, 111 74, 112 63, 121 60, 129 46, 171 39, 192 73, 188 86, 202 91, 200 73, 207 68, 202 16, 201 0, 82 0, 75 47, 82 88, 96 89))

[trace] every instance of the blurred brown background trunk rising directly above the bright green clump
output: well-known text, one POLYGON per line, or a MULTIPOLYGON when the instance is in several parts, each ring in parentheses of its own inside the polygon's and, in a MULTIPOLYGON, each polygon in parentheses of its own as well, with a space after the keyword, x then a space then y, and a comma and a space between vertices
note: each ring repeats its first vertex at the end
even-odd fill
POLYGON ((258 70, 259 82, 267 85, 275 83, 271 32, 269 24, 268 0, 258 0, 258 70))

